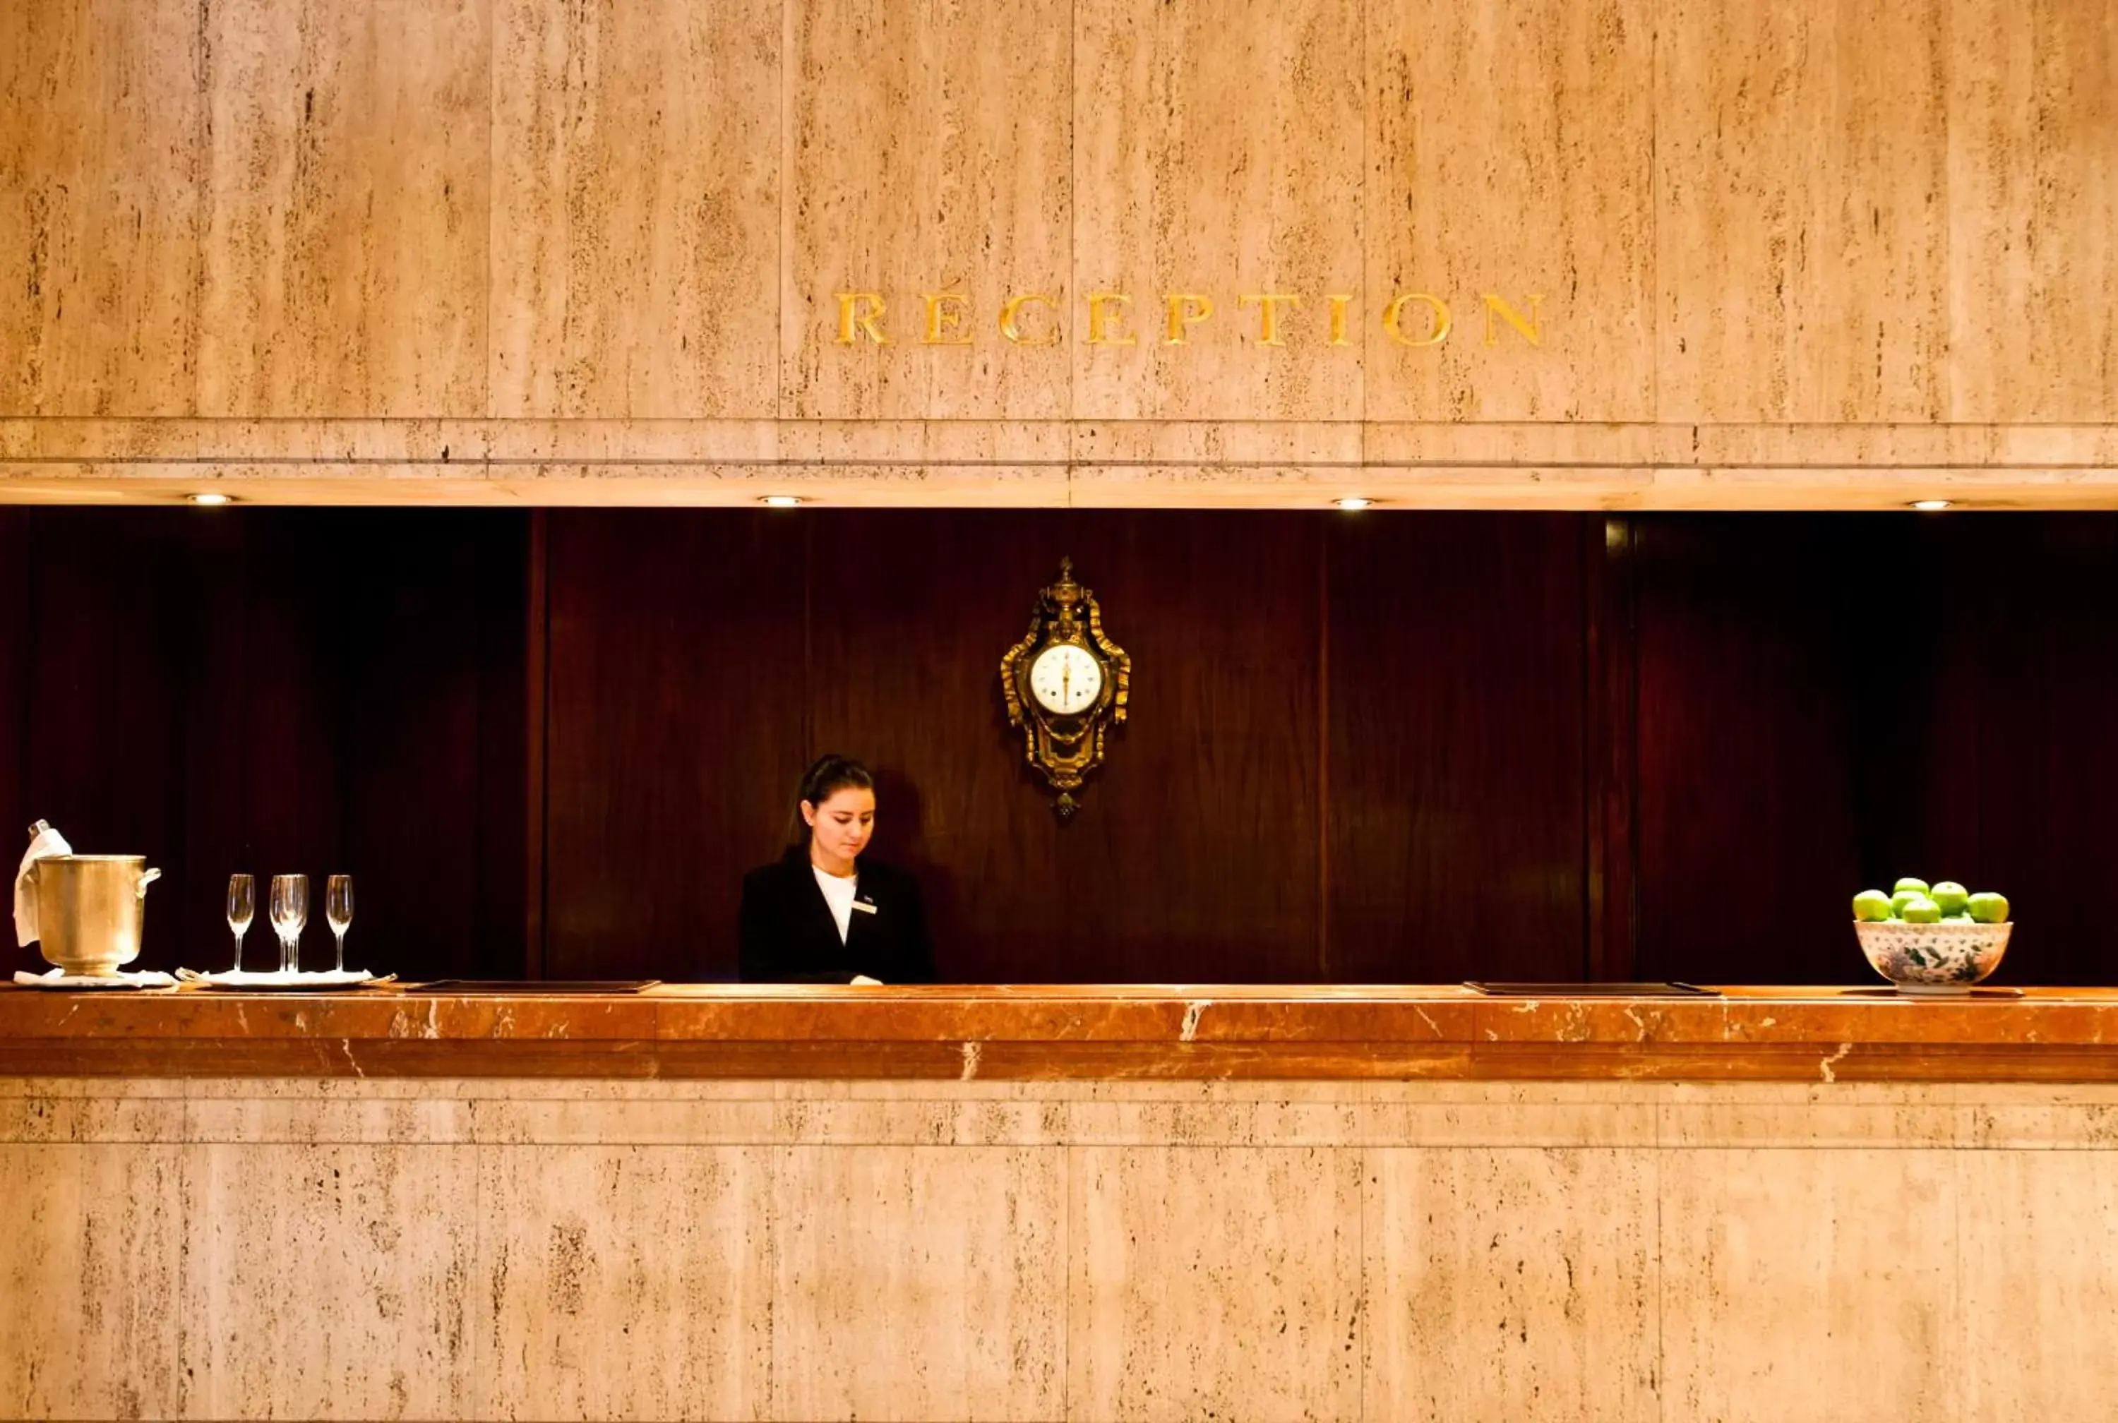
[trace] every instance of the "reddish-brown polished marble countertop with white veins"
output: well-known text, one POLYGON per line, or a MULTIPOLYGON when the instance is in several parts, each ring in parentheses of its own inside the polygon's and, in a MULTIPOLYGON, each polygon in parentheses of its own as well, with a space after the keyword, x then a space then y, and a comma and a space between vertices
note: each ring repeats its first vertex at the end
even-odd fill
POLYGON ((0 1076, 2118 1080, 2118 989, 669 985, 638 995, 0 987, 0 1076))

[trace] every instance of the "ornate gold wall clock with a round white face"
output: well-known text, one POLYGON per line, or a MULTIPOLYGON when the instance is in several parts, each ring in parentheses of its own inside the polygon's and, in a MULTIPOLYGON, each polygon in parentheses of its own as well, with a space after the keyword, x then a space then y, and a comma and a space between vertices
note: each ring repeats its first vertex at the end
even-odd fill
POLYGON ((1125 722, 1133 659, 1103 635, 1095 593, 1074 582, 1074 559, 1059 559, 1059 582, 1038 593, 1029 631, 1000 659, 1008 724, 1023 733, 1023 758, 1059 792, 1065 819, 1074 792, 1103 764, 1103 733, 1125 722))

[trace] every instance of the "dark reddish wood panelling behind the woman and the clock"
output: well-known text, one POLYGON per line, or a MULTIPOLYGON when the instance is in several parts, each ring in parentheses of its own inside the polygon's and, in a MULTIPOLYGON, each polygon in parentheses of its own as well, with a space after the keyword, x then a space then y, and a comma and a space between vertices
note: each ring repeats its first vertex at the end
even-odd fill
POLYGON ((875 853, 921 877, 951 978, 1315 976, 1313 523, 818 510, 549 527, 553 974, 729 972, 737 877, 775 853, 807 760, 837 750, 877 771, 875 853), (1135 720, 1070 824, 998 684, 1061 555, 1137 659, 1135 720))

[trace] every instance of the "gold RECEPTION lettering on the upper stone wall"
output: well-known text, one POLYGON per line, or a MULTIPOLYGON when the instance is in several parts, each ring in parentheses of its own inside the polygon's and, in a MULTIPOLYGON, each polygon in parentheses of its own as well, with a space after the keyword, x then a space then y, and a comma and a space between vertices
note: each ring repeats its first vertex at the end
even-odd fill
MULTIPOLYGON (((883 292, 837 292, 839 296, 839 345, 890 345, 885 332, 887 303, 883 292)), ((991 326, 974 322, 970 292, 921 292, 926 322, 919 345, 976 345, 991 339, 991 326), (979 332, 987 332, 979 337, 979 332)), ((1087 335, 1078 337, 1087 345, 1139 345, 1139 337, 1125 328, 1133 296, 1129 292, 1087 292, 1076 301, 1089 307, 1087 335)), ((1317 294, 1305 292, 1241 292, 1237 307, 1258 309, 1258 332, 1222 337, 1222 341, 1250 341, 1254 345, 1286 347, 1290 337, 1296 345, 1313 339, 1317 318, 1303 316, 1313 309, 1309 303, 1317 294)), ((1324 345, 1353 347, 1353 292, 1324 292, 1324 345)), ((1525 296, 1521 305, 1497 292, 1478 292, 1485 311, 1485 345, 1502 343, 1502 326, 1512 326, 1514 335, 1531 347, 1544 345, 1544 296, 1525 296)), ((1055 292, 1015 292, 1000 303, 1000 339, 1008 345, 1061 345, 1067 328, 1080 330, 1070 316, 1067 303, 1055 292), (1044 307, 1034 313, 1031 307, 1044 307)), ((1163 345, 1197 345, 1214 320, 1216 296, 1209 292, 1163 292, 1163 345)), ((1370 307, 1372 311, 1375 307, 1370 307)), ((1442 345, 1455 332, 1455 318, 1449 303, 1434 292, 1394 292, 1381 309, 1383 335, 1396 345, 1428 349, 1442 345), (1413 307, 1425 307, 1423 313, 1413 307)))

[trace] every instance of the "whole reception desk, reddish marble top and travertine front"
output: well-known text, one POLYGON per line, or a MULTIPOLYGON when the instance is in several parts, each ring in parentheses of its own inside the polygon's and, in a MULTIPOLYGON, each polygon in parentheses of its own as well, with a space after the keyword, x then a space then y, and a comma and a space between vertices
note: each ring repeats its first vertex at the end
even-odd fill
POLYGON ((2114 991, 0 989, 0 1410, 2103 1417, 2114 1076, 2114 991))

